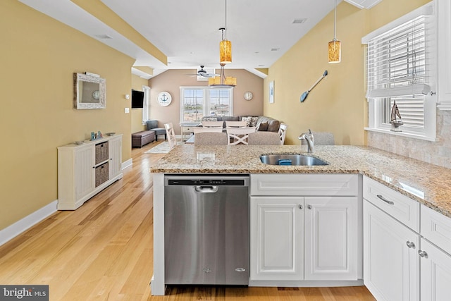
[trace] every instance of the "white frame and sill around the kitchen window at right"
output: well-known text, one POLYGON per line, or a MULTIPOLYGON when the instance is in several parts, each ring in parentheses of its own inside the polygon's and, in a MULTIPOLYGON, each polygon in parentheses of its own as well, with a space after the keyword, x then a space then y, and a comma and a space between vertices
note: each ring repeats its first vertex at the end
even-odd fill
MULTIPOLYGON (((435 86, 436 82, 436 53, 437 53, 437 46, 436 46, 436 39, 435 39, 435 32, 436 32, 436 22, 435 22, 435 5, 434 1, 431 1, 430 3, 421 6, 420 8, 417 8, 416 10, 407 13, 407 15, 404 15, 397 20, 394 20, 391 23, 388 23, 387 25, 379 28, 378 30, 375 30, 371 32, 369 35, 366 35, 362 38, 362 44, 365 45, 365 61, 366 64, 369 61, 369 54, 368 54, 368 44, 371 41, 371 39, 375 39, 376 37, 380 37, 381 35, 385 35, 386 33, 390 32, 391 30, 400 27, 401 25, 404 25, 404 23, 407 23, 409 21, 412 21, 419 16, 431 16, 431 24, 432 24, 432 33, 431 33, 431 41, 426 43, 427 50, 432 55, 431 57, 427 58, 426 63, 430 65, 430 70, 427 75, 427 82, 424 86, 428 87, 430 86, 433 88, 435 86)), ((407 46, 406 46, 407 47, 407 46)), ((367 80, 369 79, 369 68, 366 66, 366 72, 365 76, 367 80)), ((421 85, 418 85, 421 86, 421 85)), ((366 88, 369 89, 370 82, 367 82, 366 88)), ((419 89, 421 90, 421 89, 419 89)), ((427 92, 427 90, 426 90, 427 92)), ((412 137, 416 139, 421 140, 428 140, 428 141, 436 141, 436 102, 437 97, 435 94, 428 92, 426 95, 424 95, 424 128, 415 128, 415 127, 409 127, 409 126, 402 126, 401 130, 402 132, 393 132, 390 130, 391 125, 383 122, 383 116, 384 116, 384 102, 383 99, 390 99, 391 97, 383 97, 381 95, 377 95, 375 97, 369 96, 370 92, 367 92, 367 101, 369 103, 369 126, 364 128, 365 130, 374 131, 378 133, 386 133, 390 135, 400 135, 404 137, 412 137)), ((401 96, 402 95, 397 95, 401 96)), ((392 96, 395 97, 395 96, 392 96)), ((386 113, 386 112, 385 112, 386 113)), ((402 115, 402 112, 401 112, 402 115)))

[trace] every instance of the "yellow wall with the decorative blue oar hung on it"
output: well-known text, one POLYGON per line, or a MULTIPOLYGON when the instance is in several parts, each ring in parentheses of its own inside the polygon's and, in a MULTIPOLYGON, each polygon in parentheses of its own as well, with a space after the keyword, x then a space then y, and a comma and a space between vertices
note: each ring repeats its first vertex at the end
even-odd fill
POLYGON ((299 145, 299 134, 311 128, 332 132, 338 145, 365 145, 368 109, 362 37, 426 3, 425 0, 383 0, 371 10, 360 10, 342 1, 337 8, 341 63, 328 63, 333 11, 276 61, 264 80, 264 113, 288 124, 285 144, 299 145), (328 70, 328 77, 304 102, 299 102, 301 94, 309 90, 324 70, 328 70), (273 104, 268 103, 271 81, 275 87, 273 104))

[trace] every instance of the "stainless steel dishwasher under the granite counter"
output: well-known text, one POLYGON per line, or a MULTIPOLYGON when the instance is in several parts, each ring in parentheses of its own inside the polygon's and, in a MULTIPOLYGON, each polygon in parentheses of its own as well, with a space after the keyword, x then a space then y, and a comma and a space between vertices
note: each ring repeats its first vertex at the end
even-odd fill
POLYGON ((165 176, 165 283, 248 285, 249 176, 165 176))

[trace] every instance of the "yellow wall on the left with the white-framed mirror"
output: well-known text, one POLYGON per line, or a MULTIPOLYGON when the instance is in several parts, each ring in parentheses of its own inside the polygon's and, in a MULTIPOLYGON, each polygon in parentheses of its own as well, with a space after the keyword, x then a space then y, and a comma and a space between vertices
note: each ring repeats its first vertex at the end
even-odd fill
POLYGON ((123 133, 131 157, 128 56, 16 0, 0 1, 0 229, 57 199, 56 147, 123 133), (74 72, 106 79, 106 109, 73 110, 74 72))

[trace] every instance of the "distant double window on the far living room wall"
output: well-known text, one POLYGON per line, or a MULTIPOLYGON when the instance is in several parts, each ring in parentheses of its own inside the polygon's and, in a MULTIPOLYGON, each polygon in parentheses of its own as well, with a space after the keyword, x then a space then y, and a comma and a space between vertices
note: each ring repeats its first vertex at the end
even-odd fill
POLYGON ((233 88, 180 87, 180 123, 202 117, 232 116, 233 88))

